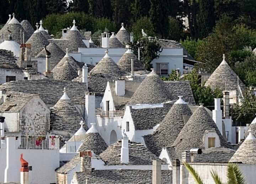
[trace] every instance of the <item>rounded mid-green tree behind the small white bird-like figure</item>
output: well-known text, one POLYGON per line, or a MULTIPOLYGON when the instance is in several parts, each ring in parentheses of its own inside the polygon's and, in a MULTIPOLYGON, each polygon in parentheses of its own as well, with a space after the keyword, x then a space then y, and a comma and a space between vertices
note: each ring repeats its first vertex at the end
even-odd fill
POLYGON ((156 35, 150 19, 148 17, 142 17, 132 25, 134 42, 142 38, 142 29, 148 36, 154 37, 156 35))

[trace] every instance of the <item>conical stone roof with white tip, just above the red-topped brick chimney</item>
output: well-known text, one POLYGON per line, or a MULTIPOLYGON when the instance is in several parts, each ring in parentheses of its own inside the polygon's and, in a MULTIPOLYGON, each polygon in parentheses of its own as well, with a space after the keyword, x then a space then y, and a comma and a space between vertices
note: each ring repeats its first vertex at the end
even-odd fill
POLYGON ((100 136, 98 131, 95 129, 95 123, 92 123, 91 128, 86 132, 86 134, 82 138, 82 145, 79 148, 79 151, 92 150, 96 155, 100 155, 103 151, 105 151, 108 147, 104 139, 100 136))

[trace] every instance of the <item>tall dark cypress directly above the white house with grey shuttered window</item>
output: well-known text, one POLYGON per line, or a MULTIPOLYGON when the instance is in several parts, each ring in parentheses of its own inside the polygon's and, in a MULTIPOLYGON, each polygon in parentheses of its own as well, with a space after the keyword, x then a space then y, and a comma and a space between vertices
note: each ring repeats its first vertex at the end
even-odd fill
POLYGON ((153 25, 155 33, 160 38, 167 38, 169 35, 169 19, 166 0, 150 0, 150 21, 153 25))

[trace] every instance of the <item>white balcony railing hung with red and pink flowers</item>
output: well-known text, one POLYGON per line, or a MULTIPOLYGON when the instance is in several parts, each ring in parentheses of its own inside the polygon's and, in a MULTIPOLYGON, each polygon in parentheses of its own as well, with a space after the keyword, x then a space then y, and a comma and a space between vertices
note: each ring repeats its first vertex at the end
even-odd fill
POLYGON ((16 137, 17 149, 59 149, 59 137, 16 137))

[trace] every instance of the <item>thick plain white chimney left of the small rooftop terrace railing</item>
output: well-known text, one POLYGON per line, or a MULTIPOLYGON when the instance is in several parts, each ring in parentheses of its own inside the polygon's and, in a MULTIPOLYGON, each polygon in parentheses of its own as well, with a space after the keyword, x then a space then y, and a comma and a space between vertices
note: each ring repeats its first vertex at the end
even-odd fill
POLYGON ((91 123, 95 123, 95 117, 95 93, 85 93, 85 122, 88 128, 91 127, 91 123))

